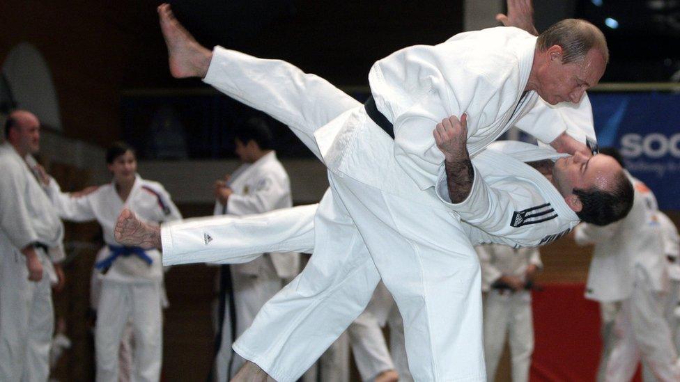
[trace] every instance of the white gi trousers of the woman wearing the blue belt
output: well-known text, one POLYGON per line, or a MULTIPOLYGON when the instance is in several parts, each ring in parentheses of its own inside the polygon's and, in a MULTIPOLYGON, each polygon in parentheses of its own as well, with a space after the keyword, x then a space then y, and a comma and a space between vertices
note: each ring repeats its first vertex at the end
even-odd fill
POLYGON ((134 338, 132 381, 160 380, 163 350, 161 288, 104 280, 95 326, 97 381, 118 382, 118 350, 128 321, 134 338))

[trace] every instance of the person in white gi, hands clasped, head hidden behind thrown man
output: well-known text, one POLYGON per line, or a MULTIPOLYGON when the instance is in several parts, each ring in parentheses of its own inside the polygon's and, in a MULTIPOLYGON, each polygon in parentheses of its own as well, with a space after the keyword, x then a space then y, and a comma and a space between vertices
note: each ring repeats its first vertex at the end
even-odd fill
POLYGON ((529 381, 534 352, 531 291, 543 267, 538 248, 512 248, 500 244, 475 247, 481 261, 484 297, 484 359, 486 376, 495 379, 506 337, 510 344, 513 382, 529 381))

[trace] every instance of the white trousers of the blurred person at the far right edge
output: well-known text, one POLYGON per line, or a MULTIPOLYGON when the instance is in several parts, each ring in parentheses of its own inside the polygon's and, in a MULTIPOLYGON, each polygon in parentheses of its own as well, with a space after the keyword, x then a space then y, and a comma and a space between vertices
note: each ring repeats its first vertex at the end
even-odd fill
POLYGON ((677 353, 663 317, 658 292, 641 269, 635 268, 635 287, 630 299, 621 302, 615 321, 615 342, 607 365, 607 381, 630 381, 640 358, 658 381, 680 381, 677 353))

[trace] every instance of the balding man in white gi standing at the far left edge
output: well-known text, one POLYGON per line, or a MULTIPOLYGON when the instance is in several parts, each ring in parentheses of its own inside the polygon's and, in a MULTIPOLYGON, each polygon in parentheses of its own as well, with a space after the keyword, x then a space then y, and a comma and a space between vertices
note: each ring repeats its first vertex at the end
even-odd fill
POLYGON ((0 145, 0 381, 46 381, 54 332, 51 284, 63 285, 63 225, 32 157, 40 121, 10 113, 0 145), (31 164, 31 166, 34 165, 31 164))

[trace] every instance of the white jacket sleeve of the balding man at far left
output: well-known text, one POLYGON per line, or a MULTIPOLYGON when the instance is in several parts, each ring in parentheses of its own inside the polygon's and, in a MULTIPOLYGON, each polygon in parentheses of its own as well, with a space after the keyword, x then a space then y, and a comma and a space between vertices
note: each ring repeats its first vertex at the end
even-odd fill
POLYGON ((27 170, 6 164, 0 176, 0 228, 13 246, 23 249, 38 240, 38 233, 31 224, 26 208, 27 170))

